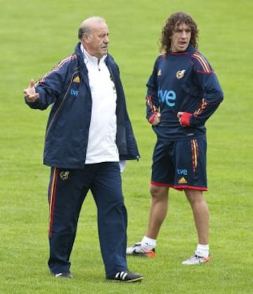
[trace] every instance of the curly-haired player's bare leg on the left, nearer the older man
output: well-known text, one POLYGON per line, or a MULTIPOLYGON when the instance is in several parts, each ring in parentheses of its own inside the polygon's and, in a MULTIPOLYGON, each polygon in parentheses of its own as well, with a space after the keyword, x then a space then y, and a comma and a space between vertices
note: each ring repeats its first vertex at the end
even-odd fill
POLYGON ((156 240, 162 222, 167 215, 169 187, 151 185, 150 194, 152 196, 152 200, 148 220, 148 229, 145 236, 156 240))

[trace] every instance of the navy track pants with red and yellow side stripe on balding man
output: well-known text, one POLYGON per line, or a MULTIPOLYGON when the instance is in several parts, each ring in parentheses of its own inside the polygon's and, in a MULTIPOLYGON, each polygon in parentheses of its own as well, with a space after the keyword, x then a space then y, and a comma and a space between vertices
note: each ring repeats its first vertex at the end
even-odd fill
POLYGON ((98 210, 98 236, 105 276, 127 269, 127 214, 119 163, 105 162, 87 164, 83 169, 51 168, 48 267, 53 274, 70 270, 79 213, 89 190, 98 210))

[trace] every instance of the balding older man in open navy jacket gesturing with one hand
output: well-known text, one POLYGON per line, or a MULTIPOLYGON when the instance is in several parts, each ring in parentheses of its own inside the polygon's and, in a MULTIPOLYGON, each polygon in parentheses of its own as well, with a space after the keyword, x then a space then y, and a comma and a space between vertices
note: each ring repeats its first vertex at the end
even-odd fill
POLYGON ((141 281, 143 276, 126 265, 127 215, 119 169, 119 160, 139 154, 119 68, 108 54, 108 25, 103 18, 88 18, 78 37, 72 55, 24 90, 31 108, 52 105, 44 149, 44 164, 51 166, 48 267, 56 277, 72 277, 70 254, 91 190, 106 279, 141 281))

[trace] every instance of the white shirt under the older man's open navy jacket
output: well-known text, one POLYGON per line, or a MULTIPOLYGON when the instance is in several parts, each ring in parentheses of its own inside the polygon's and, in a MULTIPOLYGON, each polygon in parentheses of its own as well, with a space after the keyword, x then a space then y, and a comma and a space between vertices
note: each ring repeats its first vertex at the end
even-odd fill
POLYGON ((105 57, 98 58, 89 55, 81 46, 84 62, 88 69, 89 85, 91 88, 91 124, 86 152, 86 164, 105 161, 119 161, 116 145, 117 94, 105 57))

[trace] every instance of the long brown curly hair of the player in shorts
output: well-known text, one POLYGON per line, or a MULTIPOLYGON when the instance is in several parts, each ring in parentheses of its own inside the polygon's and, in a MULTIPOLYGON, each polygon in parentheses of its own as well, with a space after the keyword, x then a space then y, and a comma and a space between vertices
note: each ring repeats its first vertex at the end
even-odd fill
POLYGON ((182 23, 185 23, 190 27, 191 37, 190 44, 195 49, 198 46, 198 29, 197 24, 187 13, 176 12, 166 20, 164 27, 162 28, 162 36, 160 38, 160 52, 168 55, 171 53, 171 36, 174 33, 174 29, 179 27, 182 23))

